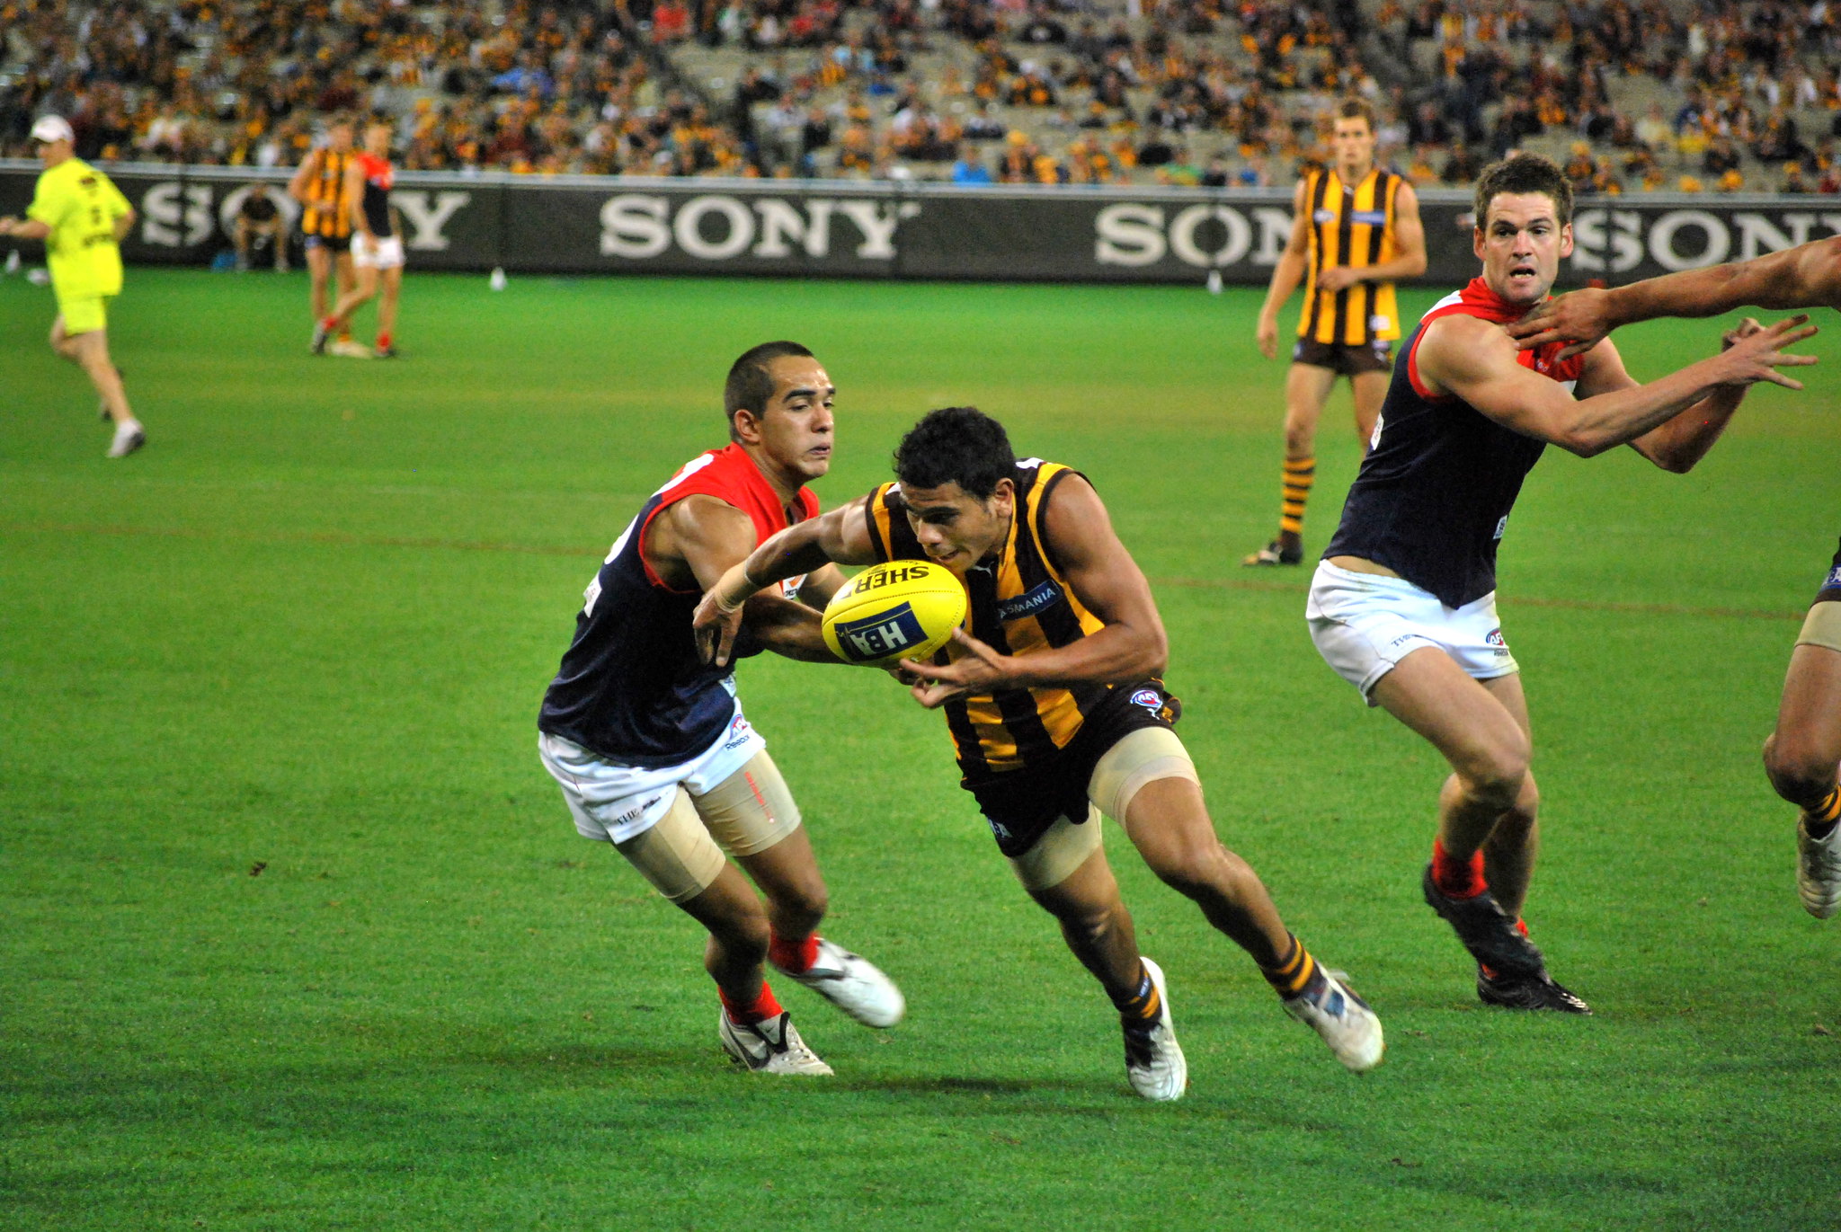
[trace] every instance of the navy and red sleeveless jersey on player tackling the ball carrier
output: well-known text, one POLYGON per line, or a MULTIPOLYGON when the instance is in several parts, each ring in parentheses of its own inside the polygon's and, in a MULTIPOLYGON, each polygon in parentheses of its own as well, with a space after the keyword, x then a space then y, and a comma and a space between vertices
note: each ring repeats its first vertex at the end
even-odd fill
MULTIPOLYGON (((817 514, 817 497, 799 488, 781 505, 742 446, 692 459, 628 523, 584 593, 574 641, 543 694, 538 727, 622 766, 676 766, 722 737, 735 718, 731 668, 698 657, 690 613, 701 591, 672 589, 641 552, 659 510, 687 495, 712 495, 747 514, 755 543, 817 514)), ((781 584, 784 595, 803 578, 781 584)), ((736 657, 758 654, 744 626, 736 657)))

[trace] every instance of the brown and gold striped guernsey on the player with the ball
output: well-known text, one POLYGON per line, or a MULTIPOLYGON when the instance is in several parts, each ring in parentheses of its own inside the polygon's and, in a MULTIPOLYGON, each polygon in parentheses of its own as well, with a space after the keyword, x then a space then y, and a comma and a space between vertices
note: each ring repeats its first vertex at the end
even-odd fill
MULTIPOLYGON (((1068 589, 1053 552, 1042 543, 1042 508, 1055 484, 1077 473, 1040 459, 1018 462, 1016 512, 1003 551, 996 562, 965 575, 972 637, 998 654, 1066 646, 1105 628, 1068 589)), ((908 523, 900 484, 873 490, 865 512, 878 560, 926 560, 908 523)), ((935 661, 961 654, 957 645, 948 645, 935 661)), ((948 702, 943 709, 959 772, 967 783, 979 783, 1051 759, 1110 691, 1112 685, 1003 689, 948 702)))

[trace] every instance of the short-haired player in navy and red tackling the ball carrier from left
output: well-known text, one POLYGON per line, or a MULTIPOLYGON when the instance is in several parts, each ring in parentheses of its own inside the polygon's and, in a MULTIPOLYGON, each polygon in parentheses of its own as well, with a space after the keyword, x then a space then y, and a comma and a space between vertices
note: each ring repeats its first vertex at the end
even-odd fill
MULTIPOLYGON (((817 514, 805 482, 830 470, 834 392, 797 343, 735 361, 724 389, 731 444, 687 462, 615 541, 538 718, 543 766, 576 829, 613 843, 709 928, 703 965, 724 1005, 722 1046, 768 1074, 832 1070, 799 1039, 762 959, 865 1026, 891 1026, 904 1007, 886 974, 817 936, 827 889, 799 808, 742 716, 731 668, 700 659, 689 622, 725 569, 817 514)), ((839 586, 836 569, 814 567, 755 597, 738 613, 742 654, 836 661, 806 604, 823 608, 839 586)))

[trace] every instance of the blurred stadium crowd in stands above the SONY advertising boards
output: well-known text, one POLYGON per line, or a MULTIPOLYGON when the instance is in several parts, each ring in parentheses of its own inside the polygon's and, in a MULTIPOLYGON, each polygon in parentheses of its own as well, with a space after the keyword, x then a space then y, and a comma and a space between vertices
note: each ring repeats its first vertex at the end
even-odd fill
POLYGON ((1841 192, 1832 0, 0 0, 0 153, 405 169, 1285 184, 1337 98, 1383 162, 1581 193, 1841 192))

